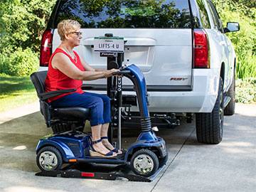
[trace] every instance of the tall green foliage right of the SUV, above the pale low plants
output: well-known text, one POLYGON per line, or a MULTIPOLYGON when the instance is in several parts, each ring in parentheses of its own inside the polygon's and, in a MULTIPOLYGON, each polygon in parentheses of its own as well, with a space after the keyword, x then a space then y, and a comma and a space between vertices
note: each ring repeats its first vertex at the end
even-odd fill
POLYGON ((227 33, 237 54, 237 78, 256 78, 256 1, 213 0, 223 26, 228 21, 240 23, 240 31, 227 33))

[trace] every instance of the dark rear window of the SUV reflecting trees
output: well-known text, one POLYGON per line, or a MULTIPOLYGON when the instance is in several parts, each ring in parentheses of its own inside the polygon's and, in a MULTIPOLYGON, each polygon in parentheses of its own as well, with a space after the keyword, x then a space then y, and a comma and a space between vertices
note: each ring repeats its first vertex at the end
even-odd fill
POLYGON ((67 0, 56 24, 67 18, 82 28, 191 28, 188 0, 67 0))

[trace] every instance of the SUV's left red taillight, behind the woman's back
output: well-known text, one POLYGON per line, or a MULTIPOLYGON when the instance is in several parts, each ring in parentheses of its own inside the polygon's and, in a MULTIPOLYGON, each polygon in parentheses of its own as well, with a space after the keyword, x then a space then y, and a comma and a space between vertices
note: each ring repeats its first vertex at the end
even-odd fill
POLYGON ((43 32, 40 49, 40 66, 48 66, 50 55, 52 54, 53 32, 46 30, 43 32))

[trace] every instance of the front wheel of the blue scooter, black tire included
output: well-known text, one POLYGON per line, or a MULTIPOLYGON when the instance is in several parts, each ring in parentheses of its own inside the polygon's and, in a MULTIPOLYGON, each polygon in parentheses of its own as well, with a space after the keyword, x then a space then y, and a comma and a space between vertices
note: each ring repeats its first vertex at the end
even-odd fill
POLYGON ((130 166, 132 171, 134 171, 135 174, 139 176, 149 177, 154 173, 156 173, 157 169, 159 169, 159 159, 157 158, 156 154, 154 154, 153 151, 150 151, 149 149, 140 149, 139 151, 136 151, 132 155, 130 166), (151 164, 151 168, 149 168, 149 170, 147 170, 146 172, 143 172, 142 169, 141 171, 138 170, 139 163, 137 164, 137 162, 140 161, 140 159, 141 161, 144 160, 149 162, 149 164, 151 164))

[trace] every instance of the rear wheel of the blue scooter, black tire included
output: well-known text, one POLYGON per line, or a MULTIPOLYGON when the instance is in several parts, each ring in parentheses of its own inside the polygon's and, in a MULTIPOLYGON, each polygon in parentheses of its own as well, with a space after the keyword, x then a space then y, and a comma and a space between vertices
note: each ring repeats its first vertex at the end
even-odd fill
POLYGON ((53 146, 45 146, 38 151, 36 164, 41 171, 55 171, 60 170, 63 159, 58 149, 53 146))

